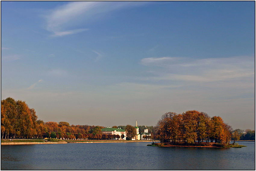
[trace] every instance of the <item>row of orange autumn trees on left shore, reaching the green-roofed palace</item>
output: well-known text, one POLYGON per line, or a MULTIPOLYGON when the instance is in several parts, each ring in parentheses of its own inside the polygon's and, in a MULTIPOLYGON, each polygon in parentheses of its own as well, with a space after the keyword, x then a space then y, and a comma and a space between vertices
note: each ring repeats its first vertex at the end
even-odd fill
MULTIPOLYGON (((104 126, 70 125, 67 122, 37 120, 36 111, 25 101, 6 98, 1 101, 1 138, 59 138, 110 140, 124 135, 102 134, 104 126)), ((129 127, 129 126, 128 126, 129 127)), ((126 130, 126 126, 113 126, 126 130)), ((134 127, 133 127, 134 128, 134 127)), ((135 129, 135 128, 134 128, 135 129)))

